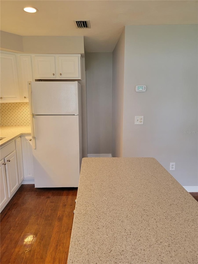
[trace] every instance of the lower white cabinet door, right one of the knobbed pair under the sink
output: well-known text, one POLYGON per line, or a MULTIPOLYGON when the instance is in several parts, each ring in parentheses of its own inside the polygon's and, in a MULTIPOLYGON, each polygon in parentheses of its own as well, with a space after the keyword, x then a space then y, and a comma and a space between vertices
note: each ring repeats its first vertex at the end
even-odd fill
POLYGON ((16 151, 5 157, 8 197, 10 197, 19 186, 16 151))

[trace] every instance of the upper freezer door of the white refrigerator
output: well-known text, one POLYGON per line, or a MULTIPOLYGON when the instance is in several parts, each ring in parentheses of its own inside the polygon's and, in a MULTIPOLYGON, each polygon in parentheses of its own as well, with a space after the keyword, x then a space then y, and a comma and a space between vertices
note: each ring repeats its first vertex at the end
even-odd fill
POLYGON ((31 82, 33 115, 77 115, 78 82, 31 82))

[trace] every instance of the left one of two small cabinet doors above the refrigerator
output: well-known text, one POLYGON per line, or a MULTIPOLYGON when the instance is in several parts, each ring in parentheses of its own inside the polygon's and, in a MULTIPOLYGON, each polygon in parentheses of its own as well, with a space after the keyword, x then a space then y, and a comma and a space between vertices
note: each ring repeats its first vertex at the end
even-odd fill
POLYGON ((55 56, 32 56, 34 79, 56 78, 55 56))

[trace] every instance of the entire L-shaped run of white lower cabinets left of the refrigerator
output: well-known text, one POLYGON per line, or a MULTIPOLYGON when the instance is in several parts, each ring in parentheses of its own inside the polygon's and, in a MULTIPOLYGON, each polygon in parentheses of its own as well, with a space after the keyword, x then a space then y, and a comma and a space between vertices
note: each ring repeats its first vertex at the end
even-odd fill
POLYGON ((0 211, 22 184, 34 184, 32 138, 22 136, 1 148, 0 211))

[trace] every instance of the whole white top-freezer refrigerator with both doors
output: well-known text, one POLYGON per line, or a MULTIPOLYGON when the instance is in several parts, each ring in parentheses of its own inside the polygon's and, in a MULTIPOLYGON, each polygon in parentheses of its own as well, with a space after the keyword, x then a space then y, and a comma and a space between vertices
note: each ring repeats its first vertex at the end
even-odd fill
POLYGON ((82 161, 81 85, 28 82, 35 188, 78 187, 82 161))

